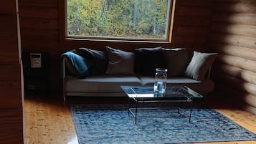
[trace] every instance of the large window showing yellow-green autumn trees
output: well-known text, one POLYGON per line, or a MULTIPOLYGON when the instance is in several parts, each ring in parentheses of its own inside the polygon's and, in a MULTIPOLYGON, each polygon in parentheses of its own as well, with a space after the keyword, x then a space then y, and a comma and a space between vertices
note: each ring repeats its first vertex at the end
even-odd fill
POLYGON ((169 42, 172 0, 66 0, 66 38, 169 42))

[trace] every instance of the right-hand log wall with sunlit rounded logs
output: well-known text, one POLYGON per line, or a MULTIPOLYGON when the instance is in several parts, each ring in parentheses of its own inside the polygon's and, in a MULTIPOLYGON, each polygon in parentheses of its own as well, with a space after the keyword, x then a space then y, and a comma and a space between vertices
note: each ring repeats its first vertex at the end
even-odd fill
POLYGON ((256 1, 214 0, 209 46, 216 92, 256 114, 256 1))

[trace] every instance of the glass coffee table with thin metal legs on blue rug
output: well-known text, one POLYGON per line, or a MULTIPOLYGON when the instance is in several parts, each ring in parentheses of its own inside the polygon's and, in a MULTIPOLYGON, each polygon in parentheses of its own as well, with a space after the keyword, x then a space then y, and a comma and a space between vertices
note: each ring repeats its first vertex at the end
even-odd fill
POLYGON ((181 115, 186 115, 189 117, 189 122, 191 121, 192 107, 190 106, 189 112, 184 112, 180 107, 138 107, 140 103, 148 102, 186 102, 192 105, 193 100, 202 99, 203 96, 199 93, 191 90, 186 86, 173 86, 166 87, 166 92, 158 93, 153 92, 153 86, 121 86, 123 91, 128 95, 128 97, 133 98, 135 106, 128 108, 128 114, 132 114, 135 118, 135 123, 139 117, 150 118, 150 117, 176 117, 181 115), (176 109, 176 114, 170 115, 138 115, 138 110, 161 110, 161 109, 176 109))

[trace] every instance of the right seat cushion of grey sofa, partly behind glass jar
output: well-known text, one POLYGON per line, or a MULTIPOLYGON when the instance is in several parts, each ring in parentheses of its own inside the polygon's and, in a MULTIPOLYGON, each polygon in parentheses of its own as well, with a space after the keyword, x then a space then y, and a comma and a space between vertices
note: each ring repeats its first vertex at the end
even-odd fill
MULTIPOLYGON (((142 85, 152 85, 155 81, 154 77, 139 77, 142 85)), ((167 86, 185 85, 192 90, 199 92, 202 95, 206 95, 207 92, 212 92, 214 90, 214 82, 206 78, 204 81, 197 81, 189 77, 169 77, 167 79, 167 86)))

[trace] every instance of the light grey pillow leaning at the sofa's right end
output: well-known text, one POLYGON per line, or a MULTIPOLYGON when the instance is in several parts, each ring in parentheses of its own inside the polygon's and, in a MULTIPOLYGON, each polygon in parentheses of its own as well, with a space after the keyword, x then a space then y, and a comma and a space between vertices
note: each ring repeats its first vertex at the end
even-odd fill
POLYGON ((217 53, 201 53, 194 51, 193 57, 188 67, 186 67, 184 74, 194 80, 204 80, 209 67, 211 67, 216 57, 217 53))

